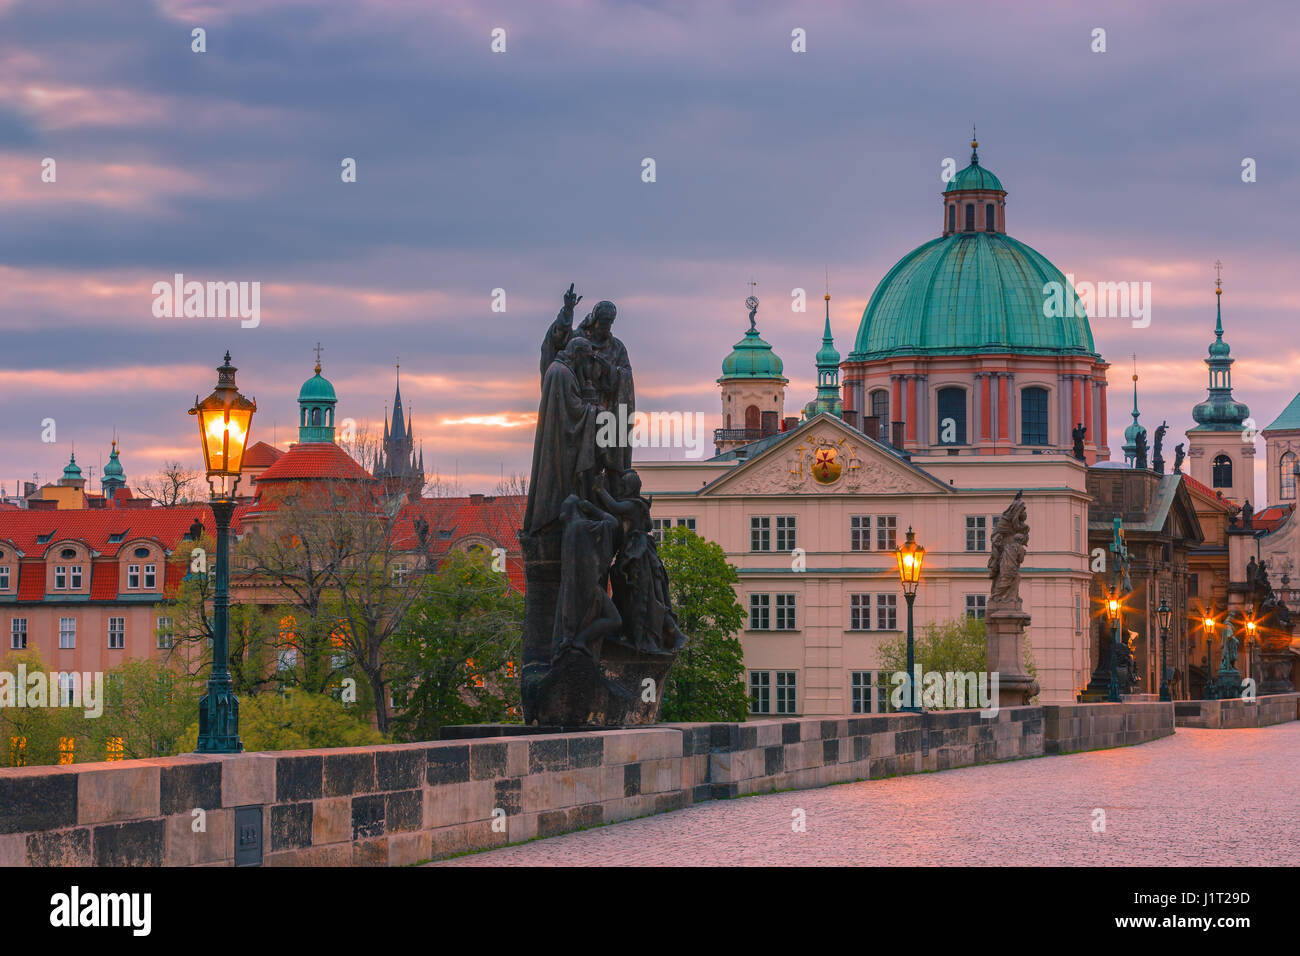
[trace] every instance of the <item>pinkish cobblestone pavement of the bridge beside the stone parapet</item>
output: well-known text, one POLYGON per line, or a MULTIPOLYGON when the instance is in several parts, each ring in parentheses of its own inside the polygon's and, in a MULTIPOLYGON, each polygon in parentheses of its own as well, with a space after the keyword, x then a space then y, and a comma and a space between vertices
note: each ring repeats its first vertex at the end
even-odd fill
POLYGON ((1292 722, 718 800, 433 865, 1295 866, 1297 808, 1292 722), (806 832, 792 830, 797 809, 806 832))

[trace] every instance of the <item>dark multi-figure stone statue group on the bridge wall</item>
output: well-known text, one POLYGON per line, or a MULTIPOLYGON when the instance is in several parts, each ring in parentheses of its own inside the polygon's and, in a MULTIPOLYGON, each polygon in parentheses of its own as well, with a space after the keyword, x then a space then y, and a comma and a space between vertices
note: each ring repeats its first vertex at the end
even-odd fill
POLYGON ((581 299, 569 285, 542 338, 520 532, 524 721, 654 723, 686 636, 650 535, 650 501, 630 467, 636 397, 628 351, 611 334, 618 310, 599 302, 575 329, 581 299))

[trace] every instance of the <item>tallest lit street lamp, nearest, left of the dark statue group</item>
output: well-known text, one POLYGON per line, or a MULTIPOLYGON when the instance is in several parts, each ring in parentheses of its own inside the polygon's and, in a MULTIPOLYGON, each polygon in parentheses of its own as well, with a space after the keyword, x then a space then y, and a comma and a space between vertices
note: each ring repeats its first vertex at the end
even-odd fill
POLYGON ((230 516, 235 510, 235 488, 243 466, 248 428, 257 403, 239 394, 235 368, 226 352, 217 368, 217 389, 202 402, 194 397, 191 415, 199 416, 203 464, 212 492, 212 514, 217 519, 217 585, 212 597, 212 671, 208 692, 199 698, 199 744, 196 753, 239 753, 239 698, 230 682, 230 516))

